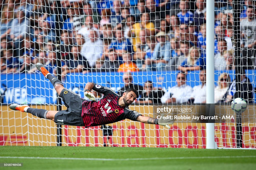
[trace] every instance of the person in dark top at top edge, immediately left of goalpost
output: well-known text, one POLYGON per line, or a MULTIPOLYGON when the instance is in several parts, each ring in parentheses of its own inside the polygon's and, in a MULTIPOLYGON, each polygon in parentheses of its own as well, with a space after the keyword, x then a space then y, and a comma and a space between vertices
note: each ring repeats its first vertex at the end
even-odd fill
POLYGON ((195 10, 195 18, 194 23, 195 26, 199 26, 201 24, 205 24, 205 12, 206 12, 206 2, 205 0, 196 0, 195 2, 196 10, 195 10))

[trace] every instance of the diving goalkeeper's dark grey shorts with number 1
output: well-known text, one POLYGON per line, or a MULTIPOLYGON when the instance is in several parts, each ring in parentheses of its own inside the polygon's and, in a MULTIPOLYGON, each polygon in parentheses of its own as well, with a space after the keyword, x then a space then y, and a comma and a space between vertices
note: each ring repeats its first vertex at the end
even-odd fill
POLYGON ((54 116, 54 122, 61 125, 84 126, 82 120, 82 103, 84 99, 66 88, 61 90, 60 97, 67 110, 61 110, 54 116))

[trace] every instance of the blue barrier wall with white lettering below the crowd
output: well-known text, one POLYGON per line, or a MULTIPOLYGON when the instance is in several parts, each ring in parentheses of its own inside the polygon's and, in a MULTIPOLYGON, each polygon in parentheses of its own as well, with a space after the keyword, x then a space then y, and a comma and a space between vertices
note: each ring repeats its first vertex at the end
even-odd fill
MULTIPOLYGON (((231 81, 234 78, 233 72, 228 71, 231 81)), ((248 70, 248 78, 255 82, 254 70, 248 70)), ((217 85, 220 72, 215 73, 215 84, 217 85)), ((100 85, 110 87, 118 91, 123 87, 123 73, 89 73, 86 75, 71 74, 66 76, 64 87, 73 90, 81 97, 83 88, 87 82, 94 82, 100 85)), ((164 90, 176 84, 176 72, 137 72, 133 74, 133 82, 143 86, 143 82, 151 80, 153 86, 163 88, 164 90)), ((49 80, 42 74, 0 74, 2 104, 10 103, 28 103, 28 104, 54 104, 57 95, 49 80)), ((190 72, 187 75, 187 84, 191 87, 199 85, 199 72, 190 72)))

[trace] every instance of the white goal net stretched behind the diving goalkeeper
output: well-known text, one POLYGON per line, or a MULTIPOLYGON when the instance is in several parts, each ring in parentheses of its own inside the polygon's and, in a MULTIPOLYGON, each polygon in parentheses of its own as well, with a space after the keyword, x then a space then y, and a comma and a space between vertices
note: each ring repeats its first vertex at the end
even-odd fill
MULTIPOLYGON (((214 7, 215 111, 230 116, 216 121, 215 142, 236 148, 240 134, 243 148, 255 148, 256 4, 243 1, 236 18, 232 3, 216 1, 214 7), (230 107, 236 97, 250 103, 239 126, 230 107)), ((57 110, 59 97, 37 62, 82 98, 87 82, 120 95, 135 88, 139 97, 130 110, 145 116, 156 117, 157 108, 205 106, 205 0, 4 0, 0 8, 0 145, 56 146, 59 138, 62 146, 206 148, 206 123, 198 120, 176 120, 170 129, 128 119, 89 128, 62 125, 57 135, 53 121, 9 109, 18 103, 57 110)), ((192 114, 196 109, 175 112, 192 114)))

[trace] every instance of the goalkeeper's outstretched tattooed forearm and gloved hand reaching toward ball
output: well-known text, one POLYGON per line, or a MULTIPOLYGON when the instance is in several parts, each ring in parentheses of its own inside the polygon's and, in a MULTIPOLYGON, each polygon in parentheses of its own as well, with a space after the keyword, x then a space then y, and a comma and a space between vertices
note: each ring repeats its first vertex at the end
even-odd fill
POLYGON ((156 119, 148 116, 138 116, 136 120, 142 123, 162 125, 167 128, 170 128, 169 125, 172 125, 174 121, 173 119, 156 119))

